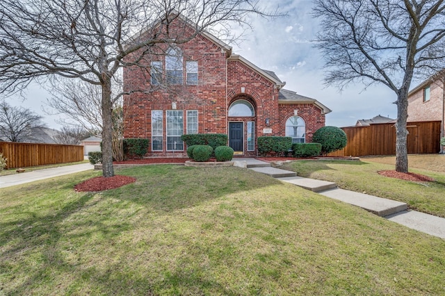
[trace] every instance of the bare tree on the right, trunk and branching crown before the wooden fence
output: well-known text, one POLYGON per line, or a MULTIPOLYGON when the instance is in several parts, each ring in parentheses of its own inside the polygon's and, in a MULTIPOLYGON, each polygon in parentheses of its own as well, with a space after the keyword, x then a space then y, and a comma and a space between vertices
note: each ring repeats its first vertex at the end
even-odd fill
POLYGON ((445 52, 442 0, 317 0, 327 85, 382 83, 397 95, 396 170, 408 172, 407 94, 414 69, 441 67, 445 52))

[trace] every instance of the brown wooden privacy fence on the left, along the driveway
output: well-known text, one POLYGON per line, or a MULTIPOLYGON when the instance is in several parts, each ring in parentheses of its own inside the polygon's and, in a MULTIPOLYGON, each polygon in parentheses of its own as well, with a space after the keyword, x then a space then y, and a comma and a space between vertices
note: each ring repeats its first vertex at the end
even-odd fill
POLYGON ((8 158, 6 168, 83 161, 83 146, 79 145, 0 142, 0 153, 8 158))

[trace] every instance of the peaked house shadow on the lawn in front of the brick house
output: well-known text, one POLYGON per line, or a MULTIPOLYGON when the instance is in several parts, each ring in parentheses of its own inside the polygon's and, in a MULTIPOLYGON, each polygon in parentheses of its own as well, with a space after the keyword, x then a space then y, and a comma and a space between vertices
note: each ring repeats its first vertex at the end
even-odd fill
POLYGON ((120 170, 136 182, 104 192, 142 204, 154 211, 170 212, 188 208, 235 192, 281 184, 266 174, 239 167, 184 167, 148 165, 120 170))

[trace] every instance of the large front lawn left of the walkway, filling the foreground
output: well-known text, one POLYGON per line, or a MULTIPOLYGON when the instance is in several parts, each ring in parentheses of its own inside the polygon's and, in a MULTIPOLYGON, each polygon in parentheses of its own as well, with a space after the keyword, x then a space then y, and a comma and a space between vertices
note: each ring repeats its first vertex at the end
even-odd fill
POLYGON ((149 165, 0 192, 0 295, 438 295, 445 241, 264 174, 149 165))

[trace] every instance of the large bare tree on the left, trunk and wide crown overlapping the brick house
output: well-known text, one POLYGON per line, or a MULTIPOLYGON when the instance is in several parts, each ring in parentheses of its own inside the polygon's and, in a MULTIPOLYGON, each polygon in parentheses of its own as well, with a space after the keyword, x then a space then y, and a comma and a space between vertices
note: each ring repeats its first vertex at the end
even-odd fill
POLYGON ((113 176, 111 88, 118 70, 138 65, 157 44, 183 44, 202 31, 229 35, 231 24, 245 24, 250 13, 274 14, 257 0, 2 0, 0 91, 51 75, 99 85, 103 175, 113 176), (180 21, 186 26, 172 30, 180 21))

